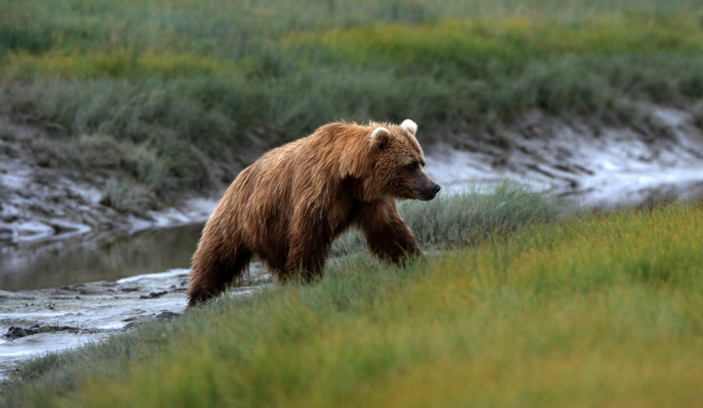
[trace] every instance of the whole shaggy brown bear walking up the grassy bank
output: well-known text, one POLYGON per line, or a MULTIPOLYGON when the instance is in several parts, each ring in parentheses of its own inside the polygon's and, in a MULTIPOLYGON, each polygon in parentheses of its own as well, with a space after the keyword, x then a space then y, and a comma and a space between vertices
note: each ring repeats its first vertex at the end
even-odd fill
POLYGON ((439 191, 423 169, 417 129, 412 120, 334 122, 243 170, 202 231, 188 306, 240 279, 252 257, 278 279, 321 276, 330 245, 349 227, 361 229, 370 253, 396 264, 422 255, 395 202, 439 191))

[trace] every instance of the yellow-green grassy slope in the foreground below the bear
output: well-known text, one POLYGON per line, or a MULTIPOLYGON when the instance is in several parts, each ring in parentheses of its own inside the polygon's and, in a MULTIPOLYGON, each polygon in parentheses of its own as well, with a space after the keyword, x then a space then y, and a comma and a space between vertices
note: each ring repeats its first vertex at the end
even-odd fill
POLYGON ((24 364, 4 402, 698 406, 702 215, 675 203, 574 216, 404 269, 348 257, 311 285, 24 364))

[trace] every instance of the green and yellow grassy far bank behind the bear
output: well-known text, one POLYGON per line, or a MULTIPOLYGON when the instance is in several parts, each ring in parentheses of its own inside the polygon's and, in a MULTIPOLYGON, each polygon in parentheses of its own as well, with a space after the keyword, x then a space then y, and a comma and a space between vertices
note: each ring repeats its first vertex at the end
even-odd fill
POLYGON ((46 167, 117 170, 143 199, 227 183, 331 120, 507 148, 533 108, 647 132, 643 103, 700 116, 703 98, 692 0, 12 0, 0 16, 0 115, 49 133, 2 137, 46 167))

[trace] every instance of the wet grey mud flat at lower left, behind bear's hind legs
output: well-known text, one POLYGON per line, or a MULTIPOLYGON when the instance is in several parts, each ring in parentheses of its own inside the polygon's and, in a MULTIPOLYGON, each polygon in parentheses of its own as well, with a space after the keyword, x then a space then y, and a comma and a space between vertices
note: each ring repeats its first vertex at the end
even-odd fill
MULTIPOLYGON (((75 348, 154 319, 170 319, 187 305, 188 269, 115 282, 0 291, 0 381, 20 359, 75 348)), ((231 293, 250 293, 269 281, 252 262, 250 277, 231 293)))

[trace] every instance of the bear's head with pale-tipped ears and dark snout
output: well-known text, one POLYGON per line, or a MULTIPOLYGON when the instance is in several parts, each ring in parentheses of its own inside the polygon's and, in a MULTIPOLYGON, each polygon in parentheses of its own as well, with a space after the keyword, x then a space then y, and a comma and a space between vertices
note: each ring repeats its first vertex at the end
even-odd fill
POLYGON ((415 139, 418 125, 408 119, 400 126, 371 127, 368 147, 373 158, 373 190, 394 198, 432 200, 440 187, 425 173, 425 155, 415 139))

